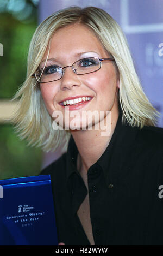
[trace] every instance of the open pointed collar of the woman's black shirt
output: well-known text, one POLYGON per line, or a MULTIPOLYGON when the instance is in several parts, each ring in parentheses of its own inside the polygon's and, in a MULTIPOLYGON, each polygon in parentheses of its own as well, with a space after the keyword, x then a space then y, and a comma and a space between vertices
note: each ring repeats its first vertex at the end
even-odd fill
MULTIPOLYGON (((111 162, 114 162, 114 166, 117 164, 116 170, 120 168, 118 163, 124 162, 127 151, 130 146, 133 145, 137 130, 137 127, 131 127, 127 122, 126 124, 122 124, 122 110, 120 110, 116 127, 109 145, 96 162, 96 164, 100 165, 103 169, 106 178, 108 176, 108 169, 110 168, 111 162)), ((73 136, 71 135, 67 148, 67 178, 74 172, 78 173, 76 167, 77 156, 78 148, 74 142, 73 136)))

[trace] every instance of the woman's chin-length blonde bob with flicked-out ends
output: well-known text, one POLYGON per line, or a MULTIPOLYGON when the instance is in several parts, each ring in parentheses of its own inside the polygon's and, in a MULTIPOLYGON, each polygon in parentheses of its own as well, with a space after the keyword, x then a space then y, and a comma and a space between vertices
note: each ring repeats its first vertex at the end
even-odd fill
POLYGON ((120 80, 118 102, 122 109, 122 123, 127 121, 130 126, 141 129, 143 126, 155 126, 156 116, 159 116, 142 90, 126 37, 117 22, 100 8, 65 8, 47 17, 37 27, 29 46, 26 81, 12 99, 19 102, 11 118, 19 137, 27 139, 28 145, 41 147, 47 152, 55 151, 58 146, 65 151, 71 133, 69 130, 52 128, 53 118, 43 102, 39 83, 32 75, 39 68, 47 47, 49 55, 55 31, 76 23, 90 28, 104 49, 115 59, 120 80))

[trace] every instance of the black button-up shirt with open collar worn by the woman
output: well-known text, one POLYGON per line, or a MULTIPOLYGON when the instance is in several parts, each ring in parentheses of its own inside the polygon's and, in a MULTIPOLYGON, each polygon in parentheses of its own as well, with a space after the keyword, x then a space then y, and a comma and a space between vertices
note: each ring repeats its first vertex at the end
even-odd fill
MULTIPOLYGON (((163 129, 121 120, 120 113, 108 147, 87 172, 95 245, 163 245, 163 129)), ((51 174, 58 241, 90 245, 77 215, 87 194, 77 155, 71 136, 67 152, 41 175, 51 174)))

